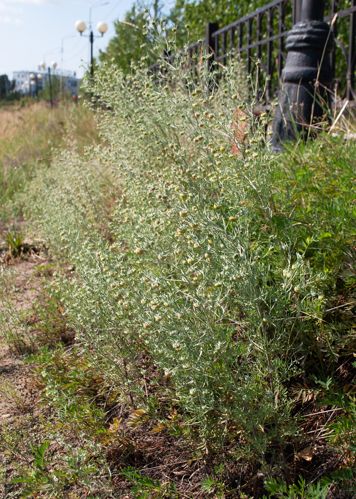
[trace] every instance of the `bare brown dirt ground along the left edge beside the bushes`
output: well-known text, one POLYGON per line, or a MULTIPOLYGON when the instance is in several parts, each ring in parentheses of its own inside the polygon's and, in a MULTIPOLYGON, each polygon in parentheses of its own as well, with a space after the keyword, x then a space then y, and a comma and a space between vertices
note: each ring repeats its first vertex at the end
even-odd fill
MULTIPOLYGON (((6 258, 2 265, 9 288, 4 295, 8 295, 13 311, 23 314, 24 321, 31 320, 33 305, 43 288, 41 269, 49 263, 44 256, 33 253, 25 258, 6 258)), ((0 306, 3 310, 4 303, 0 306)), ((25 465, 21 442, 16 444, 16 439, 26 434, 30 438, 38 431, 43 408, 39 404, 41 390, 32 374, 34 364, 26 362, 28 351, 18 351, 6 341, 5 326, 2 324, 0 331, 0 497, 12 498, 19 487, 9 482, 25 465)), ((22 443, 27 445, 25 439, 22 443)))

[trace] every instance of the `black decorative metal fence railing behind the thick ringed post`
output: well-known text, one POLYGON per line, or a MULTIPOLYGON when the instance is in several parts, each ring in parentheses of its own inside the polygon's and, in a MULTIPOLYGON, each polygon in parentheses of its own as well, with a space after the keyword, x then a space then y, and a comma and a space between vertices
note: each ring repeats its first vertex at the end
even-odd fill
MULTIPOLYGON (((300 20, 301 9, 302 0, 274 0, 227 26, 218 28, 216 23, 207 23, 202 43, 192 43, 187 53, 193 61, 204 50, 212 54, 210 64, 213 59, 226 64, 230 56, 237 56, 248 73, 256 69, 253 61, 260 60, 261 79, 270 77, 265 94, 268 103, 275 94, 286 60, 285 39, 300 20)), ((336 48, 330 57, 337 94, 340 99, 348 99, 350 105, 356 105, 356 0, 327 1, 324 20, 331 23, 336 13, 337 20, 331 26, 336 48)), ((159 71, 158 64, 152 65, 150 71, 159 71)))

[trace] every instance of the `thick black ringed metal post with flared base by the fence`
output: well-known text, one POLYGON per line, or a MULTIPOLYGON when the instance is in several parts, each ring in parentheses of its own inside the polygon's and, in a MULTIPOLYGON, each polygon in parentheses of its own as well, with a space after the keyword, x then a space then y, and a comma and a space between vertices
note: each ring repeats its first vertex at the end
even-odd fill
POLYGON ((334 38, 323 21, 325 0, 303 0, 301 21, 288 34, 286 65, 281 75, 279 105, 273 120, 273 149, 305 134, 323 114, 333 80, 330 54, 334 38), (315 98, 314 98, 315 97, 315 98))

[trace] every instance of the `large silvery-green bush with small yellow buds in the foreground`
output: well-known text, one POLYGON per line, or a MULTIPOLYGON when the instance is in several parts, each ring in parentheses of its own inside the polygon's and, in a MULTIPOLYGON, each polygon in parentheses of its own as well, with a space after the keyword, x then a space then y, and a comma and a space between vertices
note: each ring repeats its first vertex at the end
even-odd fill
POLYGON ((206 452, 230 434, 265 460, 296 432, 286 385, 301 371, 324 277, 296 250, 294 228, 274 226, 271 200, 285 186, 242 70, 209 74, 201 60, 196 76, 181 58, 162 60, 158 82, 142 66, 131 77, 98 71, 106 145, 96 154, 123 183, 116 242, 67 233, 76 277, 61 292, 93 362, 136 404, 144 350, 206 452))

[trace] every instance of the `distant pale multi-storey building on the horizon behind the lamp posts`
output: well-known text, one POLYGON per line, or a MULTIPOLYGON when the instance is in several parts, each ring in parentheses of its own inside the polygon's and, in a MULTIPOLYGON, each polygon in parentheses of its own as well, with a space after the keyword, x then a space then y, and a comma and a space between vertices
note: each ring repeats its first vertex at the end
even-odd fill
MULTIPOLYGON (((61 88, 64 92, 71 95, 78 95, 80 79, 76 78, 76 73, 71 71, 51 70, 51 76, 56 76, 61 81, 61 88)), ((44 90, 49 84, 48 73, 42 68, 37 71, 14 71, 13 80, 15 81, 14 90, 22 95, 32 95, 40 90, 44 90), (34 78, 31 79, 31 75, 34 78), (31 81, 33 84, 31 84, 31 81)))

